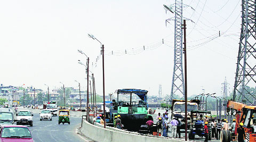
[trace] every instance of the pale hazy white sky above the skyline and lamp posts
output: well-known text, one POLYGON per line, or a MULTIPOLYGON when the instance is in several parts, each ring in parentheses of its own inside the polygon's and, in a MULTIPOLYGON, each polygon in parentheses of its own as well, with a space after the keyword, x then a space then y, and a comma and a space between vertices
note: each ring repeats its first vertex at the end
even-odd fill
MULTIPOLYGON (((106 94, 116 89, 137 88, 158 94, 171 93, 173 73, 174 16, 163 4, 175 1, 0 1, 0 82, 5 86, 44 84, 86 88, 86 56, 94 62, 96 90, 102 94, 100 44, 105 45, 106 94), (164 44, 162 43, 164 39, 164 44), (138 50, 146 49, 139 53, 138 50), (156 48, 157 47, 157 48, 156 48), (129 52, 128 52, 129 51, 129 52), (137 54, 139 53, 139 54, 137 54), (128 55, 136 54, 136 55, 128 55)), ((227 77, 233 90, 241 28, 241 1, 183 1, 187 21, 188 94, 221 94, 227 77), (220 37, 219 37, 220 31, 220 37)))

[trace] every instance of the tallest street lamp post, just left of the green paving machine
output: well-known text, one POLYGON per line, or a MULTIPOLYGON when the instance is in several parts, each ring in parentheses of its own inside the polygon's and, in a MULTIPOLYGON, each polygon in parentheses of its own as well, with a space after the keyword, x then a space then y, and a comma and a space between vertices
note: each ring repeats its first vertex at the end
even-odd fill
MULTIPOLYGON (((92 39, 96 39, 99 41, 97 38, 95 38, 93 35, 88 34, 88 36, 92 39)), ((101 46, 101 53, 102 53, 102 73, 103 73, 103 120, 104 120, 104 128, 106 128, 106 112, 105 112, 105 71, 104 71, 104 45, 101 44, 99 41, 100 46, 101 46)))

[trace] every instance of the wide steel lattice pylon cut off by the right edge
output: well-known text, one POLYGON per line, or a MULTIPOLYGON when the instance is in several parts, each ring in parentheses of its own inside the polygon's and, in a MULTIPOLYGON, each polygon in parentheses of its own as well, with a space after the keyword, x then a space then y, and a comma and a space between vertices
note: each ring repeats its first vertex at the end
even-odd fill
POLYGON ((255 0, 242 0, 242 28, 233 99, 249 105, 256 98, 250 91, 250 87, 256 87, 255 18, 255 0))

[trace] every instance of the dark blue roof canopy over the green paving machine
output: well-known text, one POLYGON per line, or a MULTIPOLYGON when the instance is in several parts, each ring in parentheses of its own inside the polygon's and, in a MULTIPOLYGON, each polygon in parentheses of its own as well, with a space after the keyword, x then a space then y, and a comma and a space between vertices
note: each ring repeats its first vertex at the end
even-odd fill
POLYGON ((118 89, 115 91, 117 94, 136 94, 140 97, 140 99, 146 98, 146 95, 148 93, 147 90, 141 90, 141 89, 118 89))

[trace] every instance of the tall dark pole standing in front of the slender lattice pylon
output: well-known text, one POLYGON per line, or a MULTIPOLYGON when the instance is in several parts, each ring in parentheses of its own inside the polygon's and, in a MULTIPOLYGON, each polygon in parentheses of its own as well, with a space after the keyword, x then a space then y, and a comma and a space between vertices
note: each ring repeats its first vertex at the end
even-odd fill
POLYGON ((184 57, 185 57, 185 141, 188 140, 188 105, 187 105, 187 95, 188 95, 188 86, 187 86, 187 40, 186 40, 186 20, 183 20, 183 30, 184 30, 184 57))

